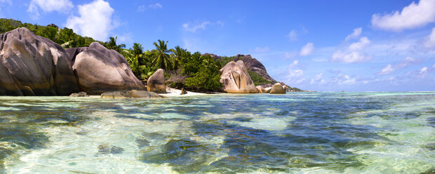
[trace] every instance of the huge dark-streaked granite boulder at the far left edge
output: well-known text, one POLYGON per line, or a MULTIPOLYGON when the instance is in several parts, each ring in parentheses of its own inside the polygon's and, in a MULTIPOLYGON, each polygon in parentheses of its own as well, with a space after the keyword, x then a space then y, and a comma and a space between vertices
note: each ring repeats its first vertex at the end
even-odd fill
POLYGON ((64 48, 24 27, 0 35, 0 95, 79 92, 64 48))

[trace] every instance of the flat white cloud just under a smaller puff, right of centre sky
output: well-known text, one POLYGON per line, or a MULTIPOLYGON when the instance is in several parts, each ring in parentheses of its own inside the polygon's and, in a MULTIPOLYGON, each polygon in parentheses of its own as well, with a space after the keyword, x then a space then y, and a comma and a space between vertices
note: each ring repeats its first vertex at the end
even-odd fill
POLYGON ((347 63, 367 62, 370 60, 372 60, 371 56, 365 53, 359 53, 357 51, 351 53, 342 53, 342 51, 336 51, 333 54, 333 57, 330 59, 331 62, 347 62, 347 63))

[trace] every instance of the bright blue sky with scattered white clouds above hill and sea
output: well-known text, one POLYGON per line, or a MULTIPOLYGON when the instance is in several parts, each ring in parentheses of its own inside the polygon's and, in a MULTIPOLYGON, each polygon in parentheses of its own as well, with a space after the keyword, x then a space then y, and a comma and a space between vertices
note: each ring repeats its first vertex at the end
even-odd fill
POLYGON ((0 0, 0 18, 119 44, 252 55, 312 91, 435 91, 435 0, 0 0))

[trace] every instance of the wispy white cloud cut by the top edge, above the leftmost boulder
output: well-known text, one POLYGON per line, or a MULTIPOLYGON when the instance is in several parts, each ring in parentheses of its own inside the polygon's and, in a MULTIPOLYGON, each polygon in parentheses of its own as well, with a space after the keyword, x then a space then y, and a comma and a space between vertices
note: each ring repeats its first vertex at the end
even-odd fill
POLYGON ((27 8, 27 12, 30 13, 29 15, 32 18, 37 19, 39 18, 39 8, 44 12, 58 11, 60 13, 69 13, 73 7, 74 5, 69 0, 32 0, 30 1, 29 8, 27 8))

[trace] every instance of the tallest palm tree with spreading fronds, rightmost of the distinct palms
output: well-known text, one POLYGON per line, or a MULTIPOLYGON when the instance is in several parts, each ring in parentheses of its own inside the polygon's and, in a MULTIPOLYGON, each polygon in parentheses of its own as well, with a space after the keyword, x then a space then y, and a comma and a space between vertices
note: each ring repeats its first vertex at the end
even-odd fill
POLYGON ((161 69, 168 69, 170 68, 170 53, 171 51, 168 50, 168 41, 161 41, 159 39, 159 44, 154 42, 154 46, 156 46, 156 49, 152 51, 152 63, 154 65, 157 65, 157 67, 160 67, 161 69))

